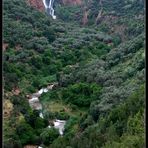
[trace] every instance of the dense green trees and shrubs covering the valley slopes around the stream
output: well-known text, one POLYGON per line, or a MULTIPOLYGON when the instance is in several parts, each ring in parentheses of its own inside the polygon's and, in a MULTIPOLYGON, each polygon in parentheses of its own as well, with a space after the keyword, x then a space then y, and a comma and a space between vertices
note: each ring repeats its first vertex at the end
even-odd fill
POLYGON ((85 6, 90 13, 82 26, 80 6, 57 5, 53 21, 24 0, 4 0, 4 101, 13 105, 4 116, 5 148, 144 147, 143 1, 110 0, 100 7, 93 0, 85 6), (59 85, 41 96, 42 119, 26 95, 50 82, 59 85), (54 118, 67 120, 63 137, 47 128, 54 118))

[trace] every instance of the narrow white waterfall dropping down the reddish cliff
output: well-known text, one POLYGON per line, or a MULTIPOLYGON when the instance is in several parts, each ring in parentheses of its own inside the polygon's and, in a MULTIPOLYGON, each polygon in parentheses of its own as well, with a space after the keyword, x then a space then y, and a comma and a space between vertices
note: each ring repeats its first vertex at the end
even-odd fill
POLYGON ((53 19, 56 19, 56 16, 54 15, 53 3, 54 0, 43 0, 47 13, 50 14, 53 19))

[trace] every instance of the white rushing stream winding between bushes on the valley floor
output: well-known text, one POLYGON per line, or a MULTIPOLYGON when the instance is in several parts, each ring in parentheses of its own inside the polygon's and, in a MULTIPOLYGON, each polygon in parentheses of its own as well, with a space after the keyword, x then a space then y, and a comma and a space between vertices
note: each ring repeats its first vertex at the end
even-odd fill
MULTIPOLYGON (((39 97, 43 94, 43 93, 47 93, 49 90, 52 90, 53 87, 55 86, 55 84, 51 84, 48 85, 47 88, 41 88, 38 92, 34 93, 31 95, 30 99, 29 99, 29 105, 33 110, 39 110, 40 114, 39 116, 41 118, 44 118, 43 112, 42 112, 42 104, 40 103, 39 97)), ((59 134, 62 136, 64 134, 64 126, 66 124, 65 120, 58 120, 55 119, 53 121, 54 124, 54 128, 58 129, 59 134)), ((48 126, 49 128, 51 128, 51 126, 48 126)))

